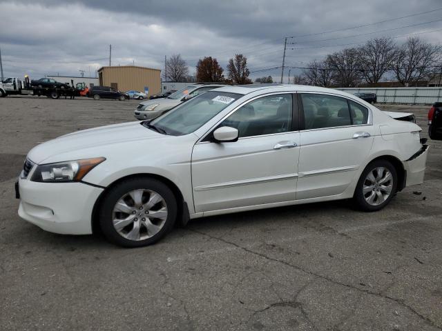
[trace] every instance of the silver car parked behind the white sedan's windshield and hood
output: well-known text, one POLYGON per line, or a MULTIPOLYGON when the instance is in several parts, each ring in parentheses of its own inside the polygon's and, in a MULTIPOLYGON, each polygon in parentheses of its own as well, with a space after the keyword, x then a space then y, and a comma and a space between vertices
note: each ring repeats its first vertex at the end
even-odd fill
POLYGON ((196 97, 198 94, 202 94, 214 88, 220 88, 222 84, 202 84, 196 83, 169 95, 164 99, 155 99, 144 101, 135 109, 134 116, 136 119, 155 119, 164 112, 171 110, 173 107, 178 106, 180 103, 196 97))

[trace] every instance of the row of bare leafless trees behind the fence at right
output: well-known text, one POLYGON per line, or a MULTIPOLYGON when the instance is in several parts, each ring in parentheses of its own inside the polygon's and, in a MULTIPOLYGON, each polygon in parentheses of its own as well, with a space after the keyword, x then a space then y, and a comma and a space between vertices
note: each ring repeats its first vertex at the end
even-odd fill
POLYGON ((294 83, 352 88, 361 83, 375 84, 389 74, 403 86, 413 86, 441 71, 440 45, 410 37, 401 46, 392 39, 375 38, 361 47, 345 48, 325 59, 307 64, 294 83))

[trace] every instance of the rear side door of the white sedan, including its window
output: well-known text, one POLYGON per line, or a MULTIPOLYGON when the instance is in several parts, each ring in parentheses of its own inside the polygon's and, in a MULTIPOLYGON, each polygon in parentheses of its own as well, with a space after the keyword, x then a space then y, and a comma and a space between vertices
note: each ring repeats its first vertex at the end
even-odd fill
POLYGON ((300 94, 296 199, 341 194, 365 163, 375 130, 368 108, 331 94, 300 94))

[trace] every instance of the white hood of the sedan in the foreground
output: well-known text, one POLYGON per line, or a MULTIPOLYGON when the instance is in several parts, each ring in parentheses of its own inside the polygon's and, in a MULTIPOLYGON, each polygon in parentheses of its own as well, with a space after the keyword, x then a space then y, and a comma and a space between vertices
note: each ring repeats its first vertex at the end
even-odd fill
POLYGON ((124 148, 125 143, 139 143, 146 140, 164 139, 165 136, 148 128, 139 121, 120 123, 81 130, 41 143, 32 148, 28 159, 37 164, 70 161, 89 157, 106 157, 109 148, 124 148), (104 154, 103 154, 104 153, 104 154))

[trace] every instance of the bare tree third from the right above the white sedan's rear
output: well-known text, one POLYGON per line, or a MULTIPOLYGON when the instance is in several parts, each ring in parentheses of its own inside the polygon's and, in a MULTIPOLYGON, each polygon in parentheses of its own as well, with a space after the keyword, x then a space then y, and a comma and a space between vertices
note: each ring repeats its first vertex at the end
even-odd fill
POLYGON ((359 54, 357 48, 345 48, 327 55, 325 61, 333 71, 333 81, 338 87, 352 88, 361 83, 359 54))

